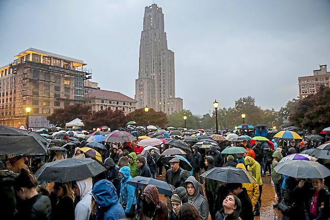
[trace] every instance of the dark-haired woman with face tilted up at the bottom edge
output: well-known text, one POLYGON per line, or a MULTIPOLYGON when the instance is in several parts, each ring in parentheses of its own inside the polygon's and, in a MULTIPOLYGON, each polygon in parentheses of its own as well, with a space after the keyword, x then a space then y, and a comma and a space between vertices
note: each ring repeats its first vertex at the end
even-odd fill
POLYGON ((216 220, 240 220, 240 213, 242 210, 242 203, 240 199, 229 194, 222 202, 222 208, 215 213, 216 220))

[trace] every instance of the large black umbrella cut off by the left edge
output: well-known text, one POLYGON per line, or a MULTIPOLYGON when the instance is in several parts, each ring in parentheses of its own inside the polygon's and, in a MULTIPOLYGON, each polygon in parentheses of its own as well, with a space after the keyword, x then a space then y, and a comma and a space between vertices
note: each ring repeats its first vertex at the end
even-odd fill
POLYGON ((37 132, 0 125, 0 154, 47 154, 47 140, 37 132))

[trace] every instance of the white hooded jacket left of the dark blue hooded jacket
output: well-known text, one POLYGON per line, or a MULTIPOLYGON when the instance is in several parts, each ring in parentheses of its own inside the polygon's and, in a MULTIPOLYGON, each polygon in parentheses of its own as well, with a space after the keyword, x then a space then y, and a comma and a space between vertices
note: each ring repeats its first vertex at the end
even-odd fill
POLYGON ((75 208, 75 219, 76 220, 88 220, 91 213, 92 204, 92 178, 77 180, 77 186, 80 191, 80 201, 77 203, 75 208))

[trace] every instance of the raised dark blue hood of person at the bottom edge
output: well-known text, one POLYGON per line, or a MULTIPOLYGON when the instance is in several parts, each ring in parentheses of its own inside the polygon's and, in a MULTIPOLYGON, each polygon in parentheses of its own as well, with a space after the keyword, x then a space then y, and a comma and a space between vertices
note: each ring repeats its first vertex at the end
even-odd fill
POLYGON ((92 195, 96 200, 97 206, 101 208, 109 207, 118 201, 116 188, 107 179, 96 182, 92 190, 92 195))

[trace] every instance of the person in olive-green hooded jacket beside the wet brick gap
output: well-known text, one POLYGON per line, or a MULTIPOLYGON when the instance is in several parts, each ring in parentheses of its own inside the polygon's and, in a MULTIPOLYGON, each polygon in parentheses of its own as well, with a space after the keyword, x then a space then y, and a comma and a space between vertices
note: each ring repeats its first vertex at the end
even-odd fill
POLYGON ((273 153, 273 162, 272 162, 272 180, 274 182, 274 188, 277 195, 277 203, 273 207, 277 208, 278 204, 282 201, 281 185, 283 182, 283 176, 280 173, 275 171, 275 167, 278 165, 278 162, 282 159, 282 154, 279 151, 274 151, 273 153))

